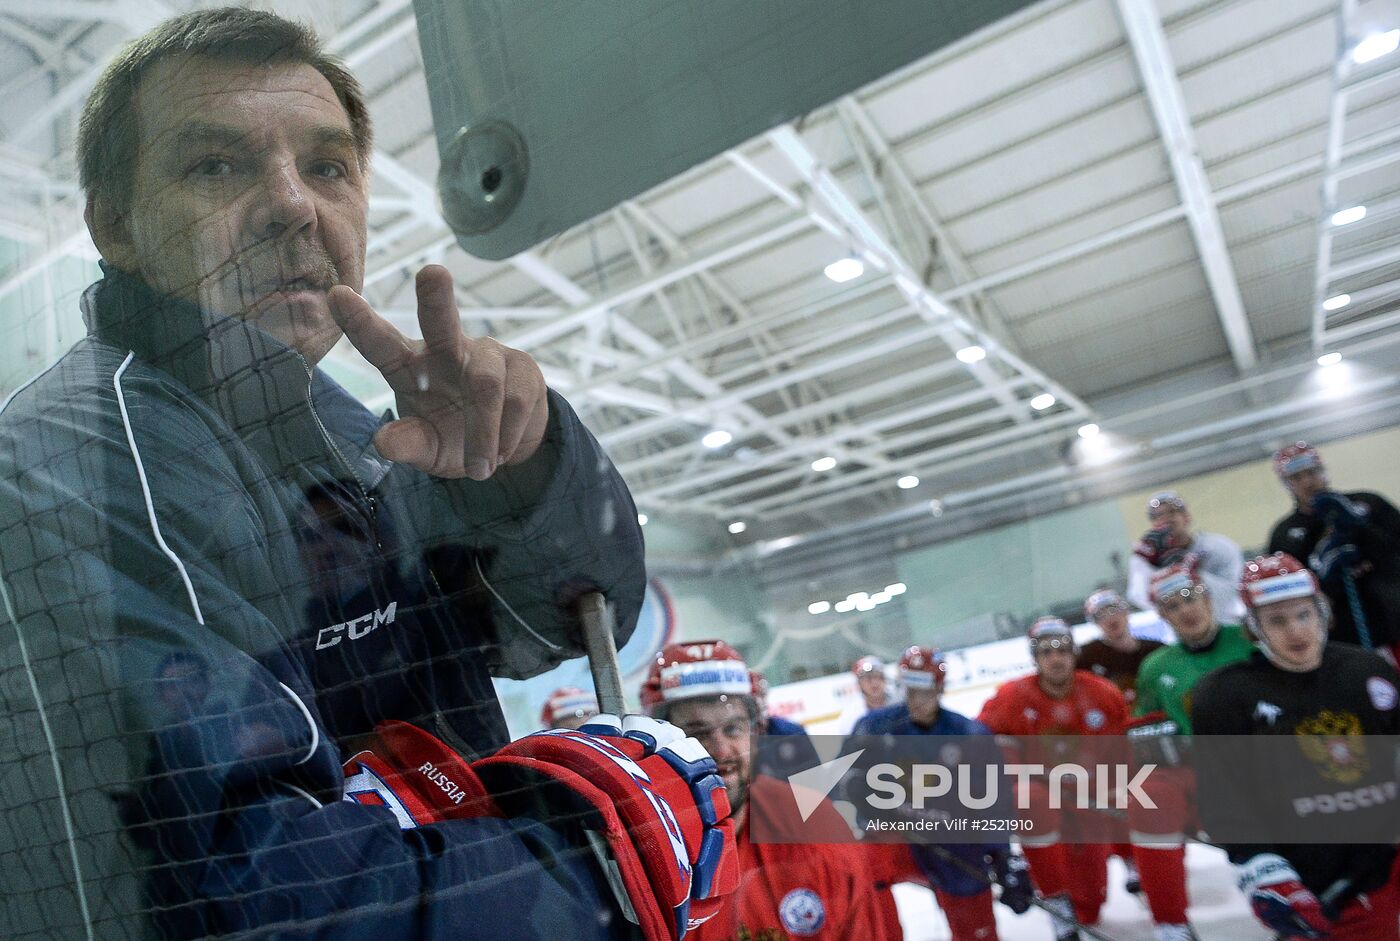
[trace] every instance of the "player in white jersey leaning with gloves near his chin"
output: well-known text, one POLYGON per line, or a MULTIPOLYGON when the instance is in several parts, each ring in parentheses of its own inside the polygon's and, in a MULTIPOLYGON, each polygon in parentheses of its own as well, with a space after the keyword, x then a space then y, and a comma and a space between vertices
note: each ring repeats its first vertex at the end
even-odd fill
POLYGON ((1147 501, 1147 518, 1152 524, 1128 562, 1128 601, 1138 608, 1152 608, 1152 577, 1193 559, 1200 577, 1211 590, 1215 619, 1238 625, 1245 616, 1240 605, 1239 573, 1245 567, 1245 556, 1239 546, 1215 532, 1191 532, 1191 514, 1186 501, 1173 492, 1154 493, 1147 501))

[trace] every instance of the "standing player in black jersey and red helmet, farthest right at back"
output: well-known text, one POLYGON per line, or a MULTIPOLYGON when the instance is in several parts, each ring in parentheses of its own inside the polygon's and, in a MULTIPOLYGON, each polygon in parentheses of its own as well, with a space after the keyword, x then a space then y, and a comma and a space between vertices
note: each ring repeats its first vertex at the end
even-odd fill
POLYGON ((1274 472, 1295 506, 1274 525, 1268 550, 1316 573, 1336 640, 1400 653, 1400 511, 1376 493, 1333 490, 1306 441, 1278 451, 1274 472))

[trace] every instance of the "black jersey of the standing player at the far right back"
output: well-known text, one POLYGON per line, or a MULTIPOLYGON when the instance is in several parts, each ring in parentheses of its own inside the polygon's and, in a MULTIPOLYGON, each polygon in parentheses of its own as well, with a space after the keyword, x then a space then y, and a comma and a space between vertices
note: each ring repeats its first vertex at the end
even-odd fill
MULTIPOLYGON (((1371 640, 1375 644, 1400 643, 1400 511, 1376 493, 1357 490, 1344 496, 1369 511, 1366 525, 1358 529, 1352 542, 1365 562, 1355 577, 1355 584, 1371 640)), ((1329 532, 1330 528, 1322 517, 1294 508, 1274 525, 1268 536, 1268 550, 1287 552, 1308 566, 1317 543, 1329 532)), ((1333 637, 1348 644, 1358 643, 1355 616, 1345 585, 1326 584, 1323 592, 1331 602, 1333 637)))

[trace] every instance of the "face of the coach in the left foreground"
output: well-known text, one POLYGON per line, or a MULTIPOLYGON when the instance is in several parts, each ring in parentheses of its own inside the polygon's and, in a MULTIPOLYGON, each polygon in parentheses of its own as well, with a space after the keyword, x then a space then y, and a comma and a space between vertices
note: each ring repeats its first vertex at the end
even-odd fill
POLYGON ((102 255, 318 361, 340 337, 326 291, 364 284, 368 207, 330 83, 308 64, 172 59, 141 80, 134 119, 133 200, 101 227, 102 255))

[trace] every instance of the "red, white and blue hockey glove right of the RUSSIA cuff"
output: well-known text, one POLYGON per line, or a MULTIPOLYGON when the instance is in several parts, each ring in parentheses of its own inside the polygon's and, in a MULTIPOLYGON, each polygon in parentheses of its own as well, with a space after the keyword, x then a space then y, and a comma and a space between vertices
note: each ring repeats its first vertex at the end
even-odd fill
POLYGON ((679 941, 739 885, 729 800, 704 746, 643 716, 511 742, 472 765, 507 818, 577 823, 647 941, 679 941))

